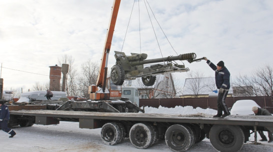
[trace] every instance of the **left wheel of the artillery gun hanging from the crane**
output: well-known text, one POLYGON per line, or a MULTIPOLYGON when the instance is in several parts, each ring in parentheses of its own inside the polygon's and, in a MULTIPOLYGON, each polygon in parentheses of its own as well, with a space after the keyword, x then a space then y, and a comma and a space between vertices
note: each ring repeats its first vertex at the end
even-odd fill
POLYGON ((125 73, 121 65, 114 65, 111 68, 111 80, 113 84, 121 86, 125 79, 125 73))

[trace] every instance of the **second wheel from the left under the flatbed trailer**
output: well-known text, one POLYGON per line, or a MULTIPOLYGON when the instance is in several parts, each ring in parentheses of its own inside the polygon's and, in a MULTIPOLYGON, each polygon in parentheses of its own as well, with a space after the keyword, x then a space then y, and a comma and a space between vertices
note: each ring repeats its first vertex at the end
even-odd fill
POLYGON ((137 149, 146 149, 156 142, 154 132, 149 124, 134 124, 129 133, 130 142, 137 149))

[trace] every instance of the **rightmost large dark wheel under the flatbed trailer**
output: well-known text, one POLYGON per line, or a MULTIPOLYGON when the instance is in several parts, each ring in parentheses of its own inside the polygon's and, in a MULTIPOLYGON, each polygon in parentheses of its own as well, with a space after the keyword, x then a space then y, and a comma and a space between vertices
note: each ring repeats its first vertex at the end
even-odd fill
POLYGON ((211 145, 221 152, 237 152, 242 148, 244 135, 239 126, 213 125, 209 132, 211 145))

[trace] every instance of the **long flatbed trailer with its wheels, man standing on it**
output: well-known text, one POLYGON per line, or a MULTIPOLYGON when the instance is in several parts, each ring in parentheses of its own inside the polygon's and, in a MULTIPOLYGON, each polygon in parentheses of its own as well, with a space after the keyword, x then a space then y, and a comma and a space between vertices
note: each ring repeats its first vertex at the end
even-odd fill
POLYGON ((19 110, 10 111, 10 119, 11 122, 27 120, 38 125, 79 122, 79 128, 101 128, 101 140, 106 145, 118 144, 128 137, 134 147, 145 149, 164 139, 174 152, 184 152, 204 138, 208 138, 218 151, 237 152, 248 141, 250 131, 254 131, 255 136, 258 130, 273 131, 273 117, 252 115, 212 118, 206 114, 19 110))

